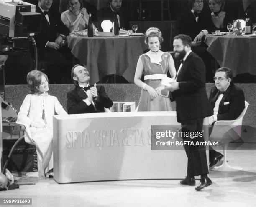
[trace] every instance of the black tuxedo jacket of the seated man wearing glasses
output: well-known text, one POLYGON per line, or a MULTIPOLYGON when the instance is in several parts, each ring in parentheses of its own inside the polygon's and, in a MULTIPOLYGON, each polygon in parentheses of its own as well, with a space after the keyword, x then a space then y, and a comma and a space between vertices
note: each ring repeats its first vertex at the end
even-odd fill
MULTIPOLYGON (((209 97, 212 113, 218 95, 219 90, 213 86, 209 97)), ((235 120, 244 109, 244 100, 243 90, 231 82, 220 101, 217 120, 235 120)))

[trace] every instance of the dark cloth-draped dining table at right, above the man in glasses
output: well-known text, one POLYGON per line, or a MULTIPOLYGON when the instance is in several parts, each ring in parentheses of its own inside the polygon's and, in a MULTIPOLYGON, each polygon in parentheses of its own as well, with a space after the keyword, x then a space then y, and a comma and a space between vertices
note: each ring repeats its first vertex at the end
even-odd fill
POLYGON ((256 75, 256 35, 209 34, 205 37, 207 51, 220 67, 228 67, 233 76, 243 73, 256 75))

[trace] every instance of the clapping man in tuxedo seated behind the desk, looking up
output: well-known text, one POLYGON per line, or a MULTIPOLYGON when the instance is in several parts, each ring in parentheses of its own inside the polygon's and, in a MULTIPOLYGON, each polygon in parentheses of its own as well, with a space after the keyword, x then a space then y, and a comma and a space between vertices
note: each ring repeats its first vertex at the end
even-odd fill
POLYGON ((104 108, 113 105, 103 86, 89 85, 90 75, 85 67, 72 67, 71 78, 75 88, 67 93, 68 114, 105 112, 104 108))

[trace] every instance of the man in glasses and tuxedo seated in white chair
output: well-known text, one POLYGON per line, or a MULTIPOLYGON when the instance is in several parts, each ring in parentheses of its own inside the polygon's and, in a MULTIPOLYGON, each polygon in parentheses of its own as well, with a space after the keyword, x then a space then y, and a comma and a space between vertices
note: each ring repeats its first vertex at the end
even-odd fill
MULTIPOLYGON (((212 87, 209 101, 213 115, 208 117, 209 125, 219 120, 235 120, 244 109, 244 93, 232 82, 232 71, 227 67, 220 67, 215 72, 215 86, 212 87)), ((209 147, 210 169, 215 167, 223 157, 209 147)))

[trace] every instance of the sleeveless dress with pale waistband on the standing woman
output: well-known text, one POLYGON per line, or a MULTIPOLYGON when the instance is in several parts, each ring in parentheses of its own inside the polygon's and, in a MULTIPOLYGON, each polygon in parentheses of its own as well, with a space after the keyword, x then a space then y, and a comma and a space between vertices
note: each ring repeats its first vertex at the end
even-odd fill
MULTIPOLYGON (((172 56, 164 52, 161 55, 161 58, 156 62, 152 62, 151 58, 147 54, 140 56, 143 62, 143 75, 153 75, 153 74, 166 74, 169 69, 169 61, 172 56)), ((156 88, 161 84, 161 79, 147 79, 145 83, 156 88)), ((172 104, 169 98, 158 96, 155 99, 151 100, 150 95, 146 90, 141 90, 141 97, 138 104, 138 111, 172 111, 172 104)))

